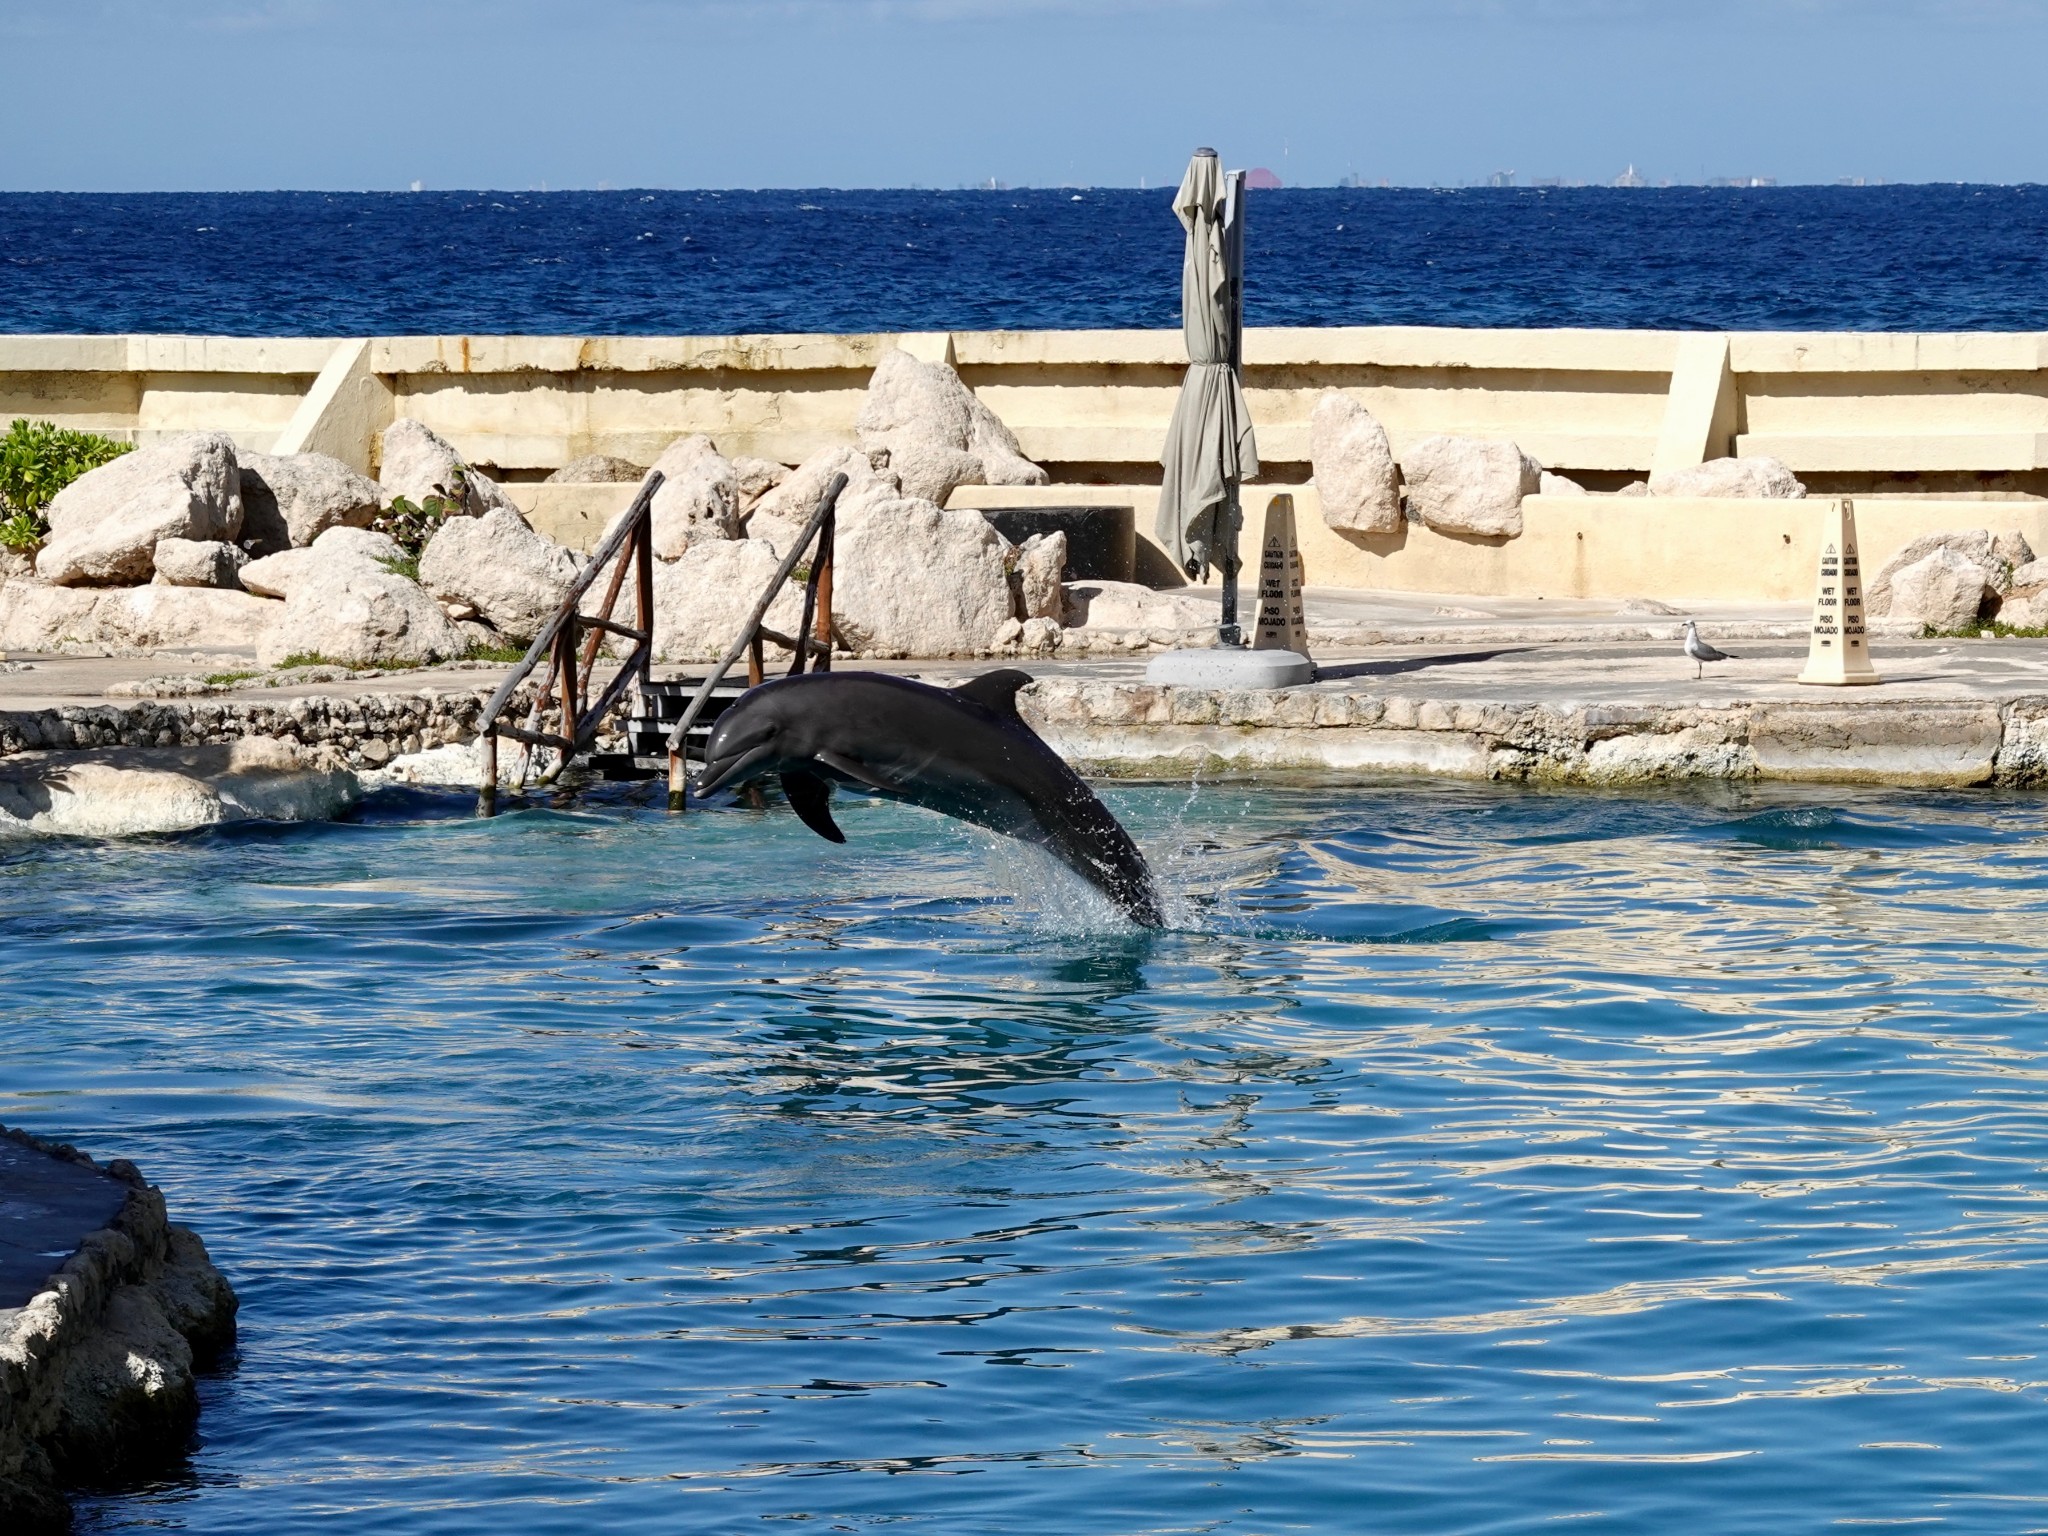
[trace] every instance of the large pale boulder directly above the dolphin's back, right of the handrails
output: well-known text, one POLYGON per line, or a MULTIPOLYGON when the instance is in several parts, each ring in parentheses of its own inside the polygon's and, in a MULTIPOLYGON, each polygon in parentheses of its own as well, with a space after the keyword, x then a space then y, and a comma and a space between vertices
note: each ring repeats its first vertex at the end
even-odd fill
POLYGON ((1012 616, 1010 553, 979 512, 879 502, 838 530, 834 623, 856 651, 979 655, 1012 616))

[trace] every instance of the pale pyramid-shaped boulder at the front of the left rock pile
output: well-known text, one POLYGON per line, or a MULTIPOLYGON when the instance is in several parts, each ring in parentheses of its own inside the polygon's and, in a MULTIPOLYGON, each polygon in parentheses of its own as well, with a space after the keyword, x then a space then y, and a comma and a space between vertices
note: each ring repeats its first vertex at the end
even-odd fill
MULTIPOLYGON (((330 530, 324 539, 332 539, 330 530)), ((319 545, 315 545, 317 549, 319 545)), ((313 559, 293 582, 285 610, 256 647, 266 668, 293 655, 344 666, 444 662, 469 641, 418 582, 367 559, 313 559)))

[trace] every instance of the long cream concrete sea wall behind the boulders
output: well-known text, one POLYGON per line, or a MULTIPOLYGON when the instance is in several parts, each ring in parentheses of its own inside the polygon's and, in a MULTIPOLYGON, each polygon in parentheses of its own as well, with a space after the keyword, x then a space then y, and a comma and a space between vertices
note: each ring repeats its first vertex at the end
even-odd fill
MULTIPOLYGON (((897 344, 954 362, 1053 471, 1049 492, 967 487, 956 502, 1114 498, 1151 524, 1180 332, 0 336, 0 416, 137 442, 209 426, 371 471, 383 426, 416 416, 512 481, 541 526, 584 543, 623 494, 530 481, 586 453, 647 463, 684 432, 782 463, 850 442, 868 373, 897 344)), ((1266 483, 1309 477, 1309 412, 1325 389, 1366 403, 1397 453, 1434 432, 1511 436, 1593 489, 1772 455, 1815 492, 1858 496, 1872 555, 1958 524, 2015 526, 2048 551, 2044 334, 1253 330, 1245 391, 1266 483)), ((1247 506, 1255 516, 1264 502, 1247 506)), ((1317 584, 1518 596, 1796 598, 1810 580, 1806 522, 1769 504, 1536 498, 1528 532, 1493 545, 1421 528, 1343 537, 1321 524, 1313 492, 1300 504, 1317 584)), ((1176 580, 1163 557, 1149 575, 1176 580)))

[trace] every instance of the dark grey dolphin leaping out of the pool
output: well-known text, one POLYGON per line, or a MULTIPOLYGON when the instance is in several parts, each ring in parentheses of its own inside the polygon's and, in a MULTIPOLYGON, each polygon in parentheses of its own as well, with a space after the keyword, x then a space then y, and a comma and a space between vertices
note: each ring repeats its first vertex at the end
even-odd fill
POLYGON ((831 784, 858 784, 1032 842, 1122 907, 1163 928, 1145 854, 1108 807, 1018 715, 1030 674, 932 688, 881 672, 811 672, 741 694, 705 743, 696 793, 780 774, 799 819, 829 842, 831 784))

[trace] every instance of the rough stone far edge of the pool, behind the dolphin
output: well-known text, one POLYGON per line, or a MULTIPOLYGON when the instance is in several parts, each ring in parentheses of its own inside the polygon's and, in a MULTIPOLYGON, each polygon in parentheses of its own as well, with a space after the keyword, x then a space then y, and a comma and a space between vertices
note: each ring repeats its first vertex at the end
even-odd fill
MULTIPOLYGON (((0 756, 274 737, 352 768, 475 739, 481 690, 137 700, 0 711, 0 756)), ((1106 778, 1419 774, 1585 786, 1790 780, 2048 786, 2048 694, 1729 705, 1468 702, 1042 676, 1026 719, 1106 778)))

